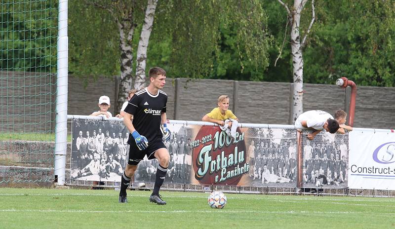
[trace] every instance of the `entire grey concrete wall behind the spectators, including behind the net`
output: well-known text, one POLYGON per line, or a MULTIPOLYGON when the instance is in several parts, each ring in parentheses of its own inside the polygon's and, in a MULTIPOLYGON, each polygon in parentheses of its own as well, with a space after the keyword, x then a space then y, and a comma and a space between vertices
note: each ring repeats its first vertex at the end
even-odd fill
MULTIPOLYGON (((0 131, 36 132, 54 129, 55 81, 53 76, 0 72, 0 131), (52 102, 51 102, 52 98, 52 102), (51 121, 52 120, 52 121, 51 121)), ((217 107, 219 95, 228 95, 230 109, 244 123, 291 124, 291 83, 216 79, 168 78, 167 118, 201 120, 217 107)), ((69 76, 68 114, 89 115, 98 110, 101 95, 116 100, 116 80, 83 80, 69 76)), ((335 85, 304 84, 303 109, 337 109, 348 112, 350 89, 335 85)), ((395 88, 358 86, 355 127, 395 129, 395 88)), ((115 106, 110 112, 115 115, 115 106)))

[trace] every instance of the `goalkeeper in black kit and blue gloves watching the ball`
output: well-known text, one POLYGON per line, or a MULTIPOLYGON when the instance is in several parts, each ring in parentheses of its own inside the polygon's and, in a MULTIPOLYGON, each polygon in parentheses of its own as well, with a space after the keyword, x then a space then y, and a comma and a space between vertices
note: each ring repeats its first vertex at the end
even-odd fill
POLYGON ((123 123, 130 132, 127 141, 129 158, 122 174, 120 203, 127 202, 126 189, 130 178, 134 175, 138 163, 147 155, 148 159, 156 158, 159 162, 150 202, 166 204, 159 195, 169 165, 169 153, 162 142, 162 137, 167 141, 170 139, 170 131, 166 126, 167 95, 160 90, 165 84, 166 72, 154 67, 150 69, 149 77, 150 85, 136 92, 124 110, 126 114, 123 123))

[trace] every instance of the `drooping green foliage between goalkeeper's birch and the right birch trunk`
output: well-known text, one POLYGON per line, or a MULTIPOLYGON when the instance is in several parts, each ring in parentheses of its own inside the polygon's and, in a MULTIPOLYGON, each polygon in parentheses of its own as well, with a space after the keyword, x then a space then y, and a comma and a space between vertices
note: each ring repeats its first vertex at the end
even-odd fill
POLYGON ((271 36, 259 0, 169 0, 165 7, 170 75, 250 80, 269 65, 271 36))

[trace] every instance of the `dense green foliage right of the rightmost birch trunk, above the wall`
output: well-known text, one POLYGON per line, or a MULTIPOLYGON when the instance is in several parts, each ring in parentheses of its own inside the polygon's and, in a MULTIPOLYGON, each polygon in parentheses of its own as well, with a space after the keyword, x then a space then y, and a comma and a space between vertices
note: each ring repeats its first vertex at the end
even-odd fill
POLYGON ((395 1, 318 1, 314 38, 304 53, 305 82, 395 86, 395 1))

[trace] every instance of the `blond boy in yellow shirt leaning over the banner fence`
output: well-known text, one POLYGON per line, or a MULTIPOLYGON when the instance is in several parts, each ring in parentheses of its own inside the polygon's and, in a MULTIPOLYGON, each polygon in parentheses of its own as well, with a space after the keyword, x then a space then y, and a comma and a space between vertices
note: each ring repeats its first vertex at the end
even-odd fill
MULTIPOLYGON (((224 126, 225 120, 228 118, 232 118, 238 121, 238 118, 235 114, 232 113, 229 108, 229 97, 227 95, 221 95, 218 97, 218 107, 214 108, 210 113, 204 115, 201 120, 214 122, 218 125, 224 126)), ((229 127, 232 127, 232 122, 228 122, 229 127)))

